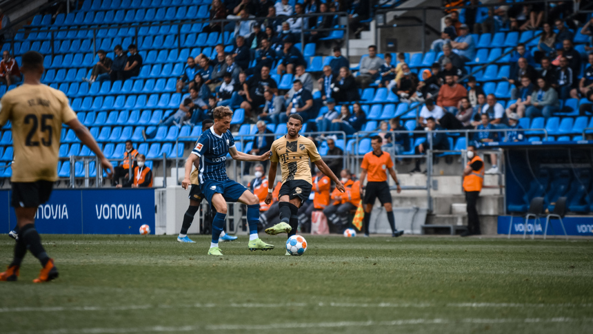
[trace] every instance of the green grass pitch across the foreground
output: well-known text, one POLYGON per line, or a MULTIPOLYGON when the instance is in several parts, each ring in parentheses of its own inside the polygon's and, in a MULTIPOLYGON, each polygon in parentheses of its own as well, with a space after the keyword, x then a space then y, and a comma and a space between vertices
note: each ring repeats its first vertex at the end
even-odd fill
MULTIPOLYGON (((593 240, 42 236, 60 270, 0 282, 0 333, 593 333, 593 240), (293 332, 294 331, 294 332, 293 332)), ((0 241, 1 265, 14 242, 0 241)))

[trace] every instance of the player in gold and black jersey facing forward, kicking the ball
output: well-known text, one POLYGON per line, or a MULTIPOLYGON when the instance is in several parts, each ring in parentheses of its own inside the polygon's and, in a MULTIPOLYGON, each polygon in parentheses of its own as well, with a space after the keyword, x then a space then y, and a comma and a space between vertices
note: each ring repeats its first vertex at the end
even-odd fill
POLYGON ((339 191, 344 192, 344 186, 336 177, 334 172, 325 165, 315 144, 309 139, 301 136, 299 131, 303 127, 303 118, 297 114, 288 117, 286 123, 287 134, 272 143, 270 151, 270 171, 268 174, 268 196, 265 203, 272 202, 272 190, 276 180, 276 170, 280 163, 282 172, 282 186, 279 194, 280 222, 265 230, 265 233, 276 235, 288 233, 288 238, 297 234, 299 225, 297 211, 299 207, 309 198, 313 187, 311 179, 311 168, 309 160, 319 170, 329 176, 339 191))

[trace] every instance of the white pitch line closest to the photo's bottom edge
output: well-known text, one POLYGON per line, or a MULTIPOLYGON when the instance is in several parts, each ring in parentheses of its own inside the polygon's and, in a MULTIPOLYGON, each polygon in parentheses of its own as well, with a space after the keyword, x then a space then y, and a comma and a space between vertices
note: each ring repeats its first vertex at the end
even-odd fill
POLYGON ((534 324, 534 323, 567 323, 567 322, 592 322, 591 318, 574 319, 570 317, 556 318, 501 318, 501 319, 474 319, 465 318, 461 320, 445 319, 410 319, 393 321, 366 321, 366 322, 312 322, 312 323, 279 323, 279 324, 260 324, 260 325, 208 325, 208 326, 152 326, 137 328, 59 328, 47 331, 34 332, 12 332, 7 334, 126 334, 126 333, 171 333, 188 331, 245 331, 245 330, 274 330, 274 329, 294 329, 294 328, 339 328, 339 327, 368 327, 368 326, 412 326, 412 325, 430 325, 430 324, 534 324))

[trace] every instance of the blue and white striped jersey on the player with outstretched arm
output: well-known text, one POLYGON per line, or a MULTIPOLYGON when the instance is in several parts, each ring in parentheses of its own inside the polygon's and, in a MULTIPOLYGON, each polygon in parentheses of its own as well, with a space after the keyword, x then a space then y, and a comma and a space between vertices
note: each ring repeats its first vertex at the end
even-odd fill
POLYGON ((230 147, 234 147, 234 140, 230 131, 227 130, 222 136, 219 136, 210 127, 210 129, 203 132, 196 147, 192 150, 192 154, 200 158, 200 183, 205 180, 229 180, 226 174, 225 161, 230 147))

